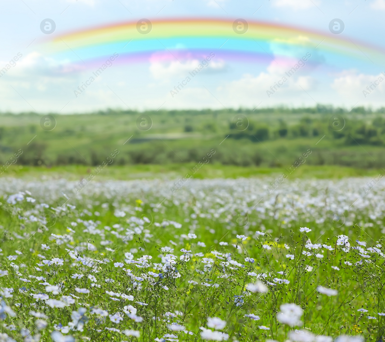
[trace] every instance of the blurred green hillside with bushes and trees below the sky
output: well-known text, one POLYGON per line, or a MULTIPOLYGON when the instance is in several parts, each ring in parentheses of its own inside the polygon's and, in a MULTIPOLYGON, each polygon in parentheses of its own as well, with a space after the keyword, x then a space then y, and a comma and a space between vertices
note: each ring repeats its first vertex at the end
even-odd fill
POLYGON ((56 127, 44 131, 40 127, 42 114, 0 114, 1 165, 19 149, 23 153, 17 165, 49 168, 98 166, 115 149, 119 154, 114 165, 193 164, 214 149, 210 163, 282 168, 310 149, 308 165, 385 167, 385 109, 357 107, 348 112, 317 106, 52 115, 56 127), (141 131, 136 124, 143 114, 152 120, 148 131, 141 131), (340 131, 330 126, 336 114, 345 120, 340 131), (240 115, 248 120, 243 131, 236 125, 240 115))

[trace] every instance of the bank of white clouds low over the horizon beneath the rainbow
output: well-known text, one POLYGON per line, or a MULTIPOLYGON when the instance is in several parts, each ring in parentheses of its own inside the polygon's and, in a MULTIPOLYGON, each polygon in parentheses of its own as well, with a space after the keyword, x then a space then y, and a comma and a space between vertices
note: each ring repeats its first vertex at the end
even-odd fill
POLYGON ((125 103, 132 109, 141 110, 157 109, 161 105, 164 109, 223 108, 222 104, 227 108, 254 108, 261 101, 260 107, 314 106, 314 101, 346 108, 351 108, 357 100, 360 100, 359 105, 365 106, 384 104, 385 76, 376 88, 372 86, 373 90, 366 98, 362 93, 381 74, 370 75, 356 70, 328 74, 309 64, 288 77, 286 73, 298 59, 282 60, 276 55, 274 58, 266 69, 246 71, 243 75, 234 74, 231 64, 214 58, 173 97, 170 90, 199 65, 200 58, 184 60, 182 64, 177 60, 153 60, 150 64, 114 65, 75 97, 74 90, 89 79, 92 69, 67 72, 64 62, 55 62, 32 52, 23 56, 1 78, 0 109, 25 111, 31 110, 31 105, 38 112, 59 112, 67 104, 62 112, 89 112, 108 107, 125 109, 125 103), (228 72, 223 73, 226 68, 228 72), (222 74, 213 75, 215 72, 222 74), (276 83, 284 76, 287 81, 278 88, 276 83), (137 82, 127 82, 130 79, 137 82), (271 87, 275 87, 275 91, 268 97, 266 91, 271 91, 271 87))

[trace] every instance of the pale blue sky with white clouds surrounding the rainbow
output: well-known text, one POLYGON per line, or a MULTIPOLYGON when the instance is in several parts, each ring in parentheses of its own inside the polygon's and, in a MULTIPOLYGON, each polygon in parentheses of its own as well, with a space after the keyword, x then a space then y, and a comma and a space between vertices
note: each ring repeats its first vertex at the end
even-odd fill
MULTIPOLYGON (((90 70, 58 73, 60 61, 42 54, 47 39, 40 22, 51 18, 53 35, 100 25, 162 18, 245 18, 330 34, 329 22, 340 18, 345 39, 385 50, 385 0, 14 0, 2 4, 0 69, 17 54, 22 57, 0 78, 0 111, 90 112, 106 108, 187 109, 333 104, 377 108, 385 106, 385 82, 365 97, 363 90, 385 72, 384 65, 340 60, 338 67, 322 64, 300 70, 273 96, 266 89, 286 69, 269 63, 216 60, 176 96, 170 91, 199 62, 196 59, 149 61, 114 65, 80 96, 74 89, 89 78, 90 70)), ((300 52, 298 52, 300 54, 300 52)), ((272 56, 275 57, 275 56, 272 56)), ((290 68, 289 68, 290 69, 290 68)), ((385 77, 384 77, 385 78, 385 77)))

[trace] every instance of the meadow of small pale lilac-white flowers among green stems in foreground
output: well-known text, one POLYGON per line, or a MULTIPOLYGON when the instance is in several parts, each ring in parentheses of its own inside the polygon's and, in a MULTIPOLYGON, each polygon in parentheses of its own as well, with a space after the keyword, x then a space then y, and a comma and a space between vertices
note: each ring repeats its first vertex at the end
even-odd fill
POLYGON ((0 196, 1 342, 383 340, 382 179, 3 178, 0 196))

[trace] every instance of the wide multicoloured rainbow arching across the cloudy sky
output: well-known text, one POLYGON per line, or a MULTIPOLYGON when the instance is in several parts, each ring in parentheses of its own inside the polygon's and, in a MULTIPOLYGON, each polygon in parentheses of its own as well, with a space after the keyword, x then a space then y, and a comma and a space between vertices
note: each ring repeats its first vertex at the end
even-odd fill
POLYGON ((56 36, 42 44, 55 60, 84 69, 119 54, 118 63, 216 59, 278 64, 311 52, 338 68, 383 64, 384 51, 344 38, 264 22, 218 19, 139 20, 56 36))

